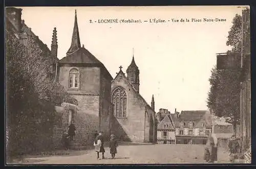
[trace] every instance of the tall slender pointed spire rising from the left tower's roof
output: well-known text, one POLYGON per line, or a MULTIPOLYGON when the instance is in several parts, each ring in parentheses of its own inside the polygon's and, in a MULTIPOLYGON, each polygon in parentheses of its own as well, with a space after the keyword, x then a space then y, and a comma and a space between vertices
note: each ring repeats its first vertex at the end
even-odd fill
POLYGON ((80 44, 80 37, 79 37, 76 10, 75 10, 75 23, 74 23, 74 29, 72 34, 72 41, 71 41, 70 49, 67 52, 67 55, 78 50, 79 48, 81 48, 81 44, 80 44))

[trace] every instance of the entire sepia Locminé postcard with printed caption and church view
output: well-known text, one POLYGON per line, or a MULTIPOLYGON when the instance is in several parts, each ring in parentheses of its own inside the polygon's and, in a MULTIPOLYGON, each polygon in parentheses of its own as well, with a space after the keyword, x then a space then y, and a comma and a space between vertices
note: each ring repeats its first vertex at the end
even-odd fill
POLYGON ((6 164, 251 163, 249 6, 5 12, 6 164))

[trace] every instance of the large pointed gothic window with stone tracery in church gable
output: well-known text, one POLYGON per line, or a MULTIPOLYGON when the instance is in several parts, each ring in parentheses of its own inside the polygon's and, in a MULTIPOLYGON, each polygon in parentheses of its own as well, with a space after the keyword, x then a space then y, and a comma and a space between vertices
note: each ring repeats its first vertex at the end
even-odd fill
POLYGON ((124 118, 127 115, 127 95, 123 88, 117 88, 112 94, 114 114, 116 117, 124 118))

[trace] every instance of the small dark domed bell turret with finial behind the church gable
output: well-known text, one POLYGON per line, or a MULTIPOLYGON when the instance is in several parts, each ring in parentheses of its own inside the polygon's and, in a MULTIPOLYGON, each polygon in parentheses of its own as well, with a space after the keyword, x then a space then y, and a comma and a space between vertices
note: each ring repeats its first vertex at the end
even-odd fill
POLYGON ((134 54, 133 54, 132 62, 128 66, 126 73, 127 73, 128 80, 133 84, 134 88, 139 92, 139 85, 140 85, 139 73, 140 73, 140 71, 139 71, 138 66, 135 63, 134 54))

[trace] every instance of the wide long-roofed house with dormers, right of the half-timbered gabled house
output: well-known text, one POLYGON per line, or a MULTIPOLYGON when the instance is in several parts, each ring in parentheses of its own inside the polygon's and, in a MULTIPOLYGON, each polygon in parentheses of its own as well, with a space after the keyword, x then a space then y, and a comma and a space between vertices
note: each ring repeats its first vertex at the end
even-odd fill
POLYGON ((208 111, 181 111, 170 115, 174 122, 177 144, 206 144, 212 127, 208 111))

